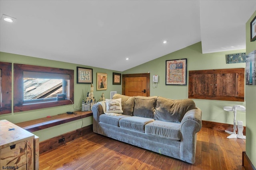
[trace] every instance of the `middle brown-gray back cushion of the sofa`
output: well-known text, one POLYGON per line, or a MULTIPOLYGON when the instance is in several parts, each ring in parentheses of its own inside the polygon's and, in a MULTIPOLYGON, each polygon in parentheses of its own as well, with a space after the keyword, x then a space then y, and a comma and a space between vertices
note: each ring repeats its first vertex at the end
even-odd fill
POLYGON ((147 117, 154 118, 154 112, 156 107, 156 96, 152 97, 143 97, 136 96, 134 97, 134 110, 133 115, 138 117, 147 117))

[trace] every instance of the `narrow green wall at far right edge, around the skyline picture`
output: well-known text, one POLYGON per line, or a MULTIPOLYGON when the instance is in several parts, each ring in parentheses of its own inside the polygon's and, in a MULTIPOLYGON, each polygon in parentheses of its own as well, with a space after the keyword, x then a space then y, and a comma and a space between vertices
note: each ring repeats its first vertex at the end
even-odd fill
MULTIPOLYGON (((256 50, 256 41, 250 42, 250 22, 256 11, 246 22, 246 54, 256 50)), ((246 154, 256 166, 256 86, 245 86, 246 93, 246 154)))

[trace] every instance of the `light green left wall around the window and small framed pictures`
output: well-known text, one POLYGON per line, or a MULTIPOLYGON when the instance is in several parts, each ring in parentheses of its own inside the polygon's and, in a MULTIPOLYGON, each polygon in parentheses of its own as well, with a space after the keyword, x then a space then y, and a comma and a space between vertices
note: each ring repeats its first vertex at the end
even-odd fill
MULTIPOLYGON (((105 98, 110 98, 111 91, 117 91, 118 93, 122 93, 121 85, 112 85, 112 72, 118 72, 114 70, 107 70, 103 68, 96 68, 86 65, 65 63, 60 61, 52 61, 46 59, 39 59, 35 57, 28 57, 23 55, 15 55, 10 53, 0 52, 0 61, 9 62, 9 63, 20 63, 20 64, 30 64, 37 66, 48 66, 48 67, 56 67, 56 68, 65 68, 74 70, 74 107, 76 110, 81 110, 82 107, 82 99, 86 96, 87 92, 90 91, 90 84, 76 84, 76 67, 86 67, 93 69, 93 85, 94 85, 94 97, 96 100, 100 99, 102 92, 105 95, 105 98), (96 91, 96 72, 107 73, 107 90, 99 90, 96 91)), ((121 73, 121 72, 118 72, 121 73)), ((12 79, 13 79, 13 66, 12 66, 12 79)), ((13 81, 12 81, 12 92, 13 92, 13 81)), ((13 93, 12 93, 13 99, 13 93)), ((12 100, 13 101, 13 100, 12 100)), ((31 111, 22 111, 17 113, 9 113, 0 115, 0 119, 6 119, 11 121, 12 123, 19 123, 23 121, 28 121, 32 119, 39 119, 42 117, 46 117, 48 115, 57 115, 59 113, 65 113, 67 111, 74 111, 72 105, 67 106, 58 106, 58 107, 50 107, 45 109, 37 109, 31 111)), ((80 119, 77 121, 72 121, 69 123, 65 123, 62 125, 58 125, 55 127, 43 129, 40 131, 33 132, 40 138, 40 141, 44 141, 46 139, 50 139, 52 137, 62 135, 64 133, 79 129, 81 126, 87 126, 92 124, 92 116, 86 117, 84 119, 80 119)))

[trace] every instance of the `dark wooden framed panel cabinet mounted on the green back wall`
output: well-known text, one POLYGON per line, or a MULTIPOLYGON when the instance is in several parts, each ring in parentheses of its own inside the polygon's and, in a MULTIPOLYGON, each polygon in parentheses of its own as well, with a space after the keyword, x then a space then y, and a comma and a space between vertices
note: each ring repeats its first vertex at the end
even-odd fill
POLYGON ((188 98, 244 101, 244 68, 193 70, 188 77, 188 98))

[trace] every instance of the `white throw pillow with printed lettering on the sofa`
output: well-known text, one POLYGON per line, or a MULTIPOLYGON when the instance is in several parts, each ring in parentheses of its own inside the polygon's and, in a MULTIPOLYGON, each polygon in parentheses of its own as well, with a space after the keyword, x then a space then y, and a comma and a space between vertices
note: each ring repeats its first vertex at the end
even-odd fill
POLYGON ((121 98, 106 99, 106 113, 123 113, 121 98))

